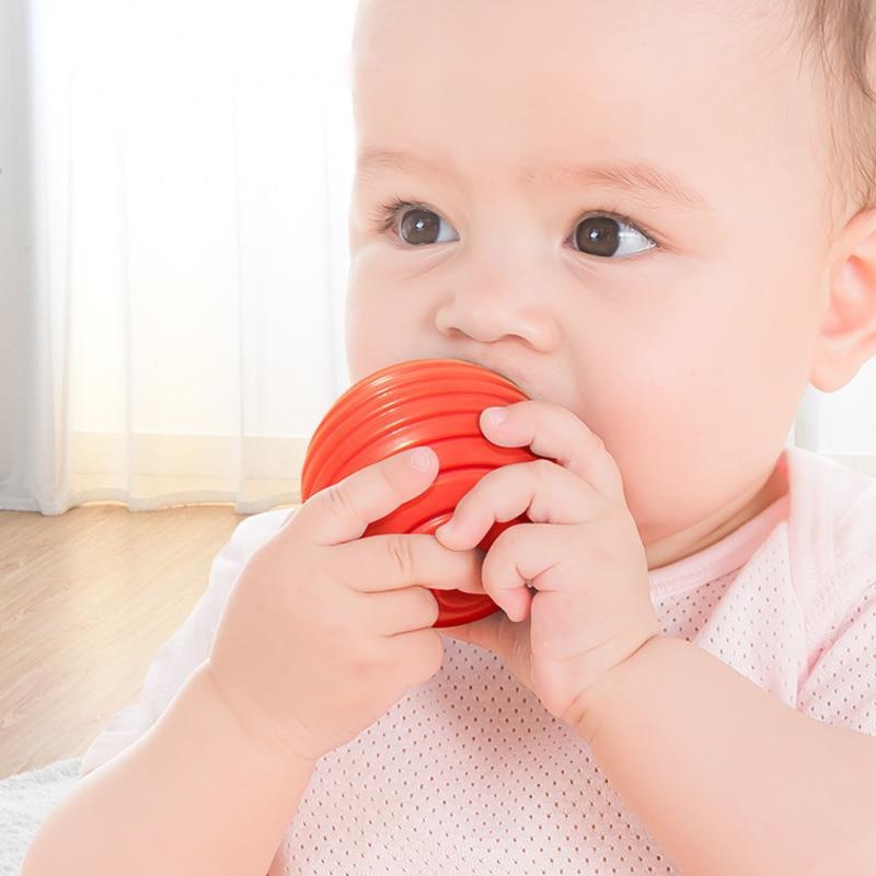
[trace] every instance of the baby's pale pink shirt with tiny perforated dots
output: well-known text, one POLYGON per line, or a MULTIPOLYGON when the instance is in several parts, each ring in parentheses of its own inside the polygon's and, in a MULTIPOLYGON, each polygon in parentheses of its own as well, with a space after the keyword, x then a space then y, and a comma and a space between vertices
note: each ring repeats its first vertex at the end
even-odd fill
MULTIPOLYGON (((650 572, 652 600, 666 635, 814 718, 876 735, 876 479, 798 447, 783 462, 788 494, 650 572)), ((207 659, 241 567, 289 514, 241 521, 157 654, 140 702, 112 718, 80 774, 143 734, 207 659)), ((431 679, 318 762, 270 876, 679 872, 587 745, 502 658, 443 643, 431 679)))

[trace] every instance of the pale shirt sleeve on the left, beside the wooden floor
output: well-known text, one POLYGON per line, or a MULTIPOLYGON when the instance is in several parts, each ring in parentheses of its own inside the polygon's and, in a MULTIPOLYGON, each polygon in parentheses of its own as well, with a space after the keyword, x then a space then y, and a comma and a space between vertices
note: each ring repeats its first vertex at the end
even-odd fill
POLYGON ((210 565, 207 588, 182 626, 161 646, 146 673, 140 700, 117 712, 84 753, 83 776, 126 749, 170 705, 197 667, 209 657, 231 588, 255 551, 270 539, 298 506, 254 514, 241 520, 210 565))

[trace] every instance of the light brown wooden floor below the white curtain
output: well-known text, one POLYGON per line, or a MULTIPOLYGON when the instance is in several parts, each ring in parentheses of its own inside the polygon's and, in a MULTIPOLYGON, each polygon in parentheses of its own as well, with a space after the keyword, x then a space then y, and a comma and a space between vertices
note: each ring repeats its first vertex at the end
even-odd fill
POLYGON ((243 519, 230 505, 0 511, 0 779, 81 757, 139 700, 243 519))

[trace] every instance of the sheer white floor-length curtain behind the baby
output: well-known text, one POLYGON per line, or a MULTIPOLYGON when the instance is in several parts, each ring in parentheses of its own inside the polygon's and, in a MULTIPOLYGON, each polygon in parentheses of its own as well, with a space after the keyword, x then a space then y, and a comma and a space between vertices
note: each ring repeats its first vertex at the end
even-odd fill
MULTIPOLYGON (((300 500, 349 385, 355 7, 9 0, 0 508, 300 500)), ((875 397, 810 387, 786 442, 876 475, 875 397)))

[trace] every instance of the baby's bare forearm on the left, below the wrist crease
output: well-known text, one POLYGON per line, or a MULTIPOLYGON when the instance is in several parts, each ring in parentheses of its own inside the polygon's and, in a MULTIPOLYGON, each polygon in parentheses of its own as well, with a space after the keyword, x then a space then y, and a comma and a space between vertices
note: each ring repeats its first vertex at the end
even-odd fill
POLYGON ((244 727, 208 666, 49 814, 22 876, 265 876, 314 762, 244 727))

